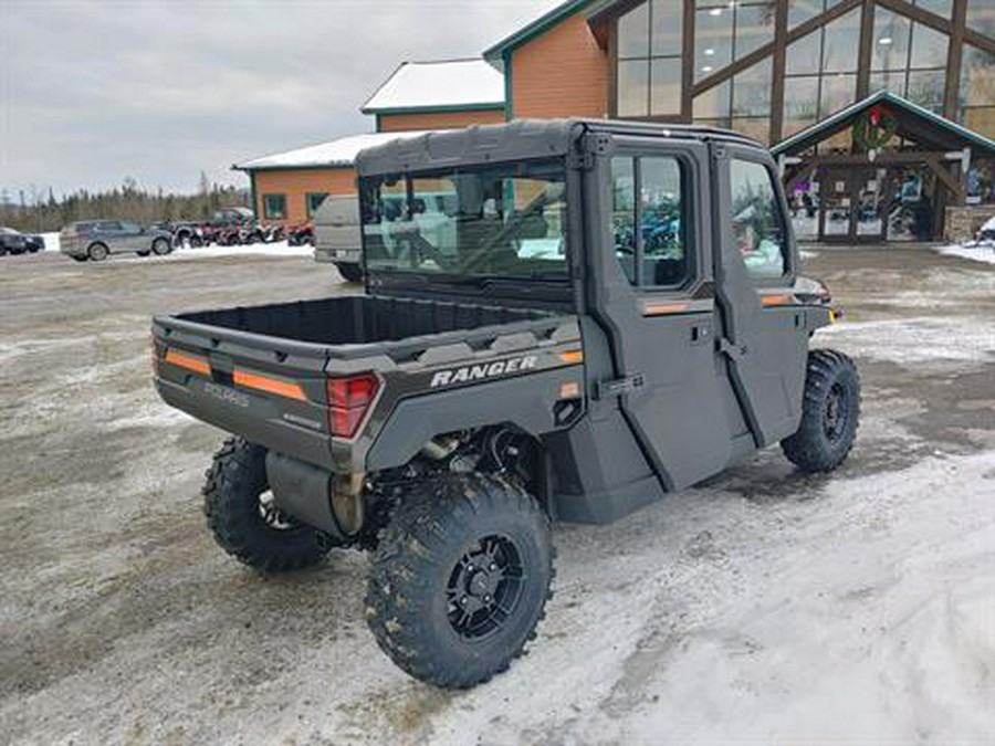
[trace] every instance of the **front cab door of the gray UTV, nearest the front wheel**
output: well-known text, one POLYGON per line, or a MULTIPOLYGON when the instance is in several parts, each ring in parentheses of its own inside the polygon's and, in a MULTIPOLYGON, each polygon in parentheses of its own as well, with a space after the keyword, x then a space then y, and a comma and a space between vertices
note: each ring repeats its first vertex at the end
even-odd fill
POLYGON ((807 315, 793 295, 798 253, 774 161, 758 148, 715 144, 713 231, 719 349, 757 446, 802 418, 807 315))

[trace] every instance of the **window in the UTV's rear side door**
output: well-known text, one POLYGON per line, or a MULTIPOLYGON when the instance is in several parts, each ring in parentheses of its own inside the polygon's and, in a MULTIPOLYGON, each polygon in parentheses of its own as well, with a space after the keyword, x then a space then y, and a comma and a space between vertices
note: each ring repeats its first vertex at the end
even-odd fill
POLYGON ((677 158, 612 158, 615 256, 632 285, 677 287, 688 280, 683 185, 677 158))

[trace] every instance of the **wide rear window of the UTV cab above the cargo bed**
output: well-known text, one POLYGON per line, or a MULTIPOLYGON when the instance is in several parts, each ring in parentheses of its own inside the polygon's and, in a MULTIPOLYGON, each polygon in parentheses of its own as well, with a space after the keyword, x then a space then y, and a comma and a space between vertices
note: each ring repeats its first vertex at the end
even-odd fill
POLYGON ((369 270, 566 280, 562 160, 498 164, 360 183, 369 270))

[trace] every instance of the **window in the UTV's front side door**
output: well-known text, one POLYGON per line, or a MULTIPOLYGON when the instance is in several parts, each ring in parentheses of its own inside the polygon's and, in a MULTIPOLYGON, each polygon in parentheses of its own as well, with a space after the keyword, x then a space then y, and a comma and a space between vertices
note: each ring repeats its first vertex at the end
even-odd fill
POLYGON ((781 201, 762 164, 730 164, 733 237, 751 277, 772 280, 787 272, 787 240, 781 201))

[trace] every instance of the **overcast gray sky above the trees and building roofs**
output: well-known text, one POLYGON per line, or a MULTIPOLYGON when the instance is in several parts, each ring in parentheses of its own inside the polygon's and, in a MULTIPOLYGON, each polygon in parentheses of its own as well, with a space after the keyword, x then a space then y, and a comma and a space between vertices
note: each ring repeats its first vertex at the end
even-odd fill
POLYGON ((479 55, 557 0, 0 0, 0 189, 56 195, 368 132, 406 60, 479 55))

